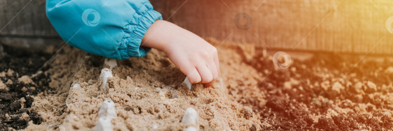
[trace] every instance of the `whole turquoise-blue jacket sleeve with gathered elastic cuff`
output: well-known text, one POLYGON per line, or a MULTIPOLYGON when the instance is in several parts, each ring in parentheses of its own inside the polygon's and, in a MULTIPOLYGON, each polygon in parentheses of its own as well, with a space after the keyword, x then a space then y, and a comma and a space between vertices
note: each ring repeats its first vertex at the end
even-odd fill
POLYGON ((162 19, 148 0, 47 0, 49 21, 71 46, 114 59, 142 57, 141 41, 162 19))

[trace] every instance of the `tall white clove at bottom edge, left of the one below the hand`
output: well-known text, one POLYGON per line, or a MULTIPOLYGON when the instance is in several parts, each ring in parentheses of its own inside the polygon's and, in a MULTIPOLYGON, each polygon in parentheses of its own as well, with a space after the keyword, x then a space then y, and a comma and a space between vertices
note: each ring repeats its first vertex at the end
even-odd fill
POLYGON ((113 131, 111 120, 115 117, 115 103, 112 100, 105 100, 98 111, 98 122, 94 131, 113 131))

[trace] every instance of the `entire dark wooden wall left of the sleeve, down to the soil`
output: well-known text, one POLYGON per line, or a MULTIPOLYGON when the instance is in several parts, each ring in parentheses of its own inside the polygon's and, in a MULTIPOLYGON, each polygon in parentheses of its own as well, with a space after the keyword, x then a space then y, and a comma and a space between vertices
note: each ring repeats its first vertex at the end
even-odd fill
POLYGON ((45 13, 45 0, 0 0, 0 42, 5 45, 43 49, 60 46, 61 37, 45 13))

